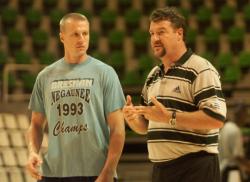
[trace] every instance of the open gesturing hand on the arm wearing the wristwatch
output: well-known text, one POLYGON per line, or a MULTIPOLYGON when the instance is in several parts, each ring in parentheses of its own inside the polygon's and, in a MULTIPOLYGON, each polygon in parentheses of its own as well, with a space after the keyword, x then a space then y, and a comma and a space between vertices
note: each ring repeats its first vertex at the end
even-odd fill
POLYGON ((135 106, 138 114, 143 115, 146 119, 158 122, 166 122, 169 119, 168 111, 155 97, 151 97, 154 106, 135 106))

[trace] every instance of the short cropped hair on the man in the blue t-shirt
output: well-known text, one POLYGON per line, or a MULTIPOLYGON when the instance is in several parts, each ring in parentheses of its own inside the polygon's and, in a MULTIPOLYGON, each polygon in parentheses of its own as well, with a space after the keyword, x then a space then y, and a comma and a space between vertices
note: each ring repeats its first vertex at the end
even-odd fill
POLYGON ((88 19, 86 16, 80 14, 80 13, 68 13, 65 16, 62 17, 60 20, 60 32, 65 31, 65 23, 69 20, 78 20, 78 21, 86 21, 89 23, 88 19))

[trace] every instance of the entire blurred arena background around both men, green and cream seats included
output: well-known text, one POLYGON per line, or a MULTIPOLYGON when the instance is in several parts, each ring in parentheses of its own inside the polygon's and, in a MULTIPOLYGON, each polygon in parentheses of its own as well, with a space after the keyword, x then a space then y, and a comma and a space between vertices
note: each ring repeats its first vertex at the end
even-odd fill
MULTIPOLYGON (((59 20, 80 12, 90 21, 88 53, 112 65, 125 94, 135 103, 158 60, 150 50, 148 17, 158 7, 176 6, 187 18, 188 47, 221 74, 228 119, 236 102, 250 106, 249 0, 0 0, 0 181, 32 182, 25 172, 27 103, 37 73, 63 56, 59 20)), ((249 126, 249 125, 248 125, 249 126)), ((126 128, 120 181, 150 181, 146 138, 126 128)), ((242 129, 250 157, 248 127, 242 129)), ((45 137, 43 146, 46 147, 45 137)))

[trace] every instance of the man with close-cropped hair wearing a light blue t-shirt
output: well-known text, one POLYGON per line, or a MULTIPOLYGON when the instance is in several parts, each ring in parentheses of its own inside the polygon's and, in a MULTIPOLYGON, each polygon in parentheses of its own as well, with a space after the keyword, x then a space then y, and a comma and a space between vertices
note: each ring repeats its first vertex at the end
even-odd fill
POLYGON ((87 54, 89 21, 60 21, 64 57, 38 76, 30 98, 27 169, 39 182, 113 182, 124 145, 123 91, 114 69, 87 54), (39 156, 44 126, 48 151, 39 156))

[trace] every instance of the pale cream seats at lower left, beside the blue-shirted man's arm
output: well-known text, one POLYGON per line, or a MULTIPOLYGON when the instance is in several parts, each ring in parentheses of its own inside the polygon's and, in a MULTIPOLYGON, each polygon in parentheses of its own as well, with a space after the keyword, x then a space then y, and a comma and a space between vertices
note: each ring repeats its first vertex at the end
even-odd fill
MULTIPOLYGON (((0 113, 0 181, 35 182, 25 169, 28 161, 26 114, 0 113)), ((45 135, 42 151, 47 146, 45 135)))

